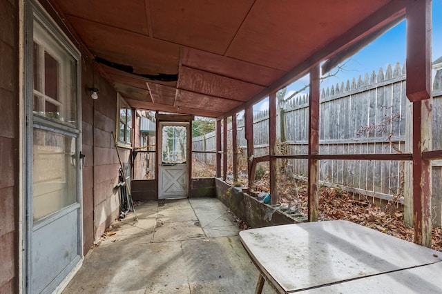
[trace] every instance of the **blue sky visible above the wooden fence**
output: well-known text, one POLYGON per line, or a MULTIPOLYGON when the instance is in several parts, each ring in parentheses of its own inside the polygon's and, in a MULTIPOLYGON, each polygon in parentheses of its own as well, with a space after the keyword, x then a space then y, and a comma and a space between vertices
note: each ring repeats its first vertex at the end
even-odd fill
MULTIPOLYGON (((432 8, 432 60, 436 60, 442 56, 442 0, 433 0, 432 8)), ((356 53, 356 55, 349 58, 345 66, 343 67, 336 77, 329 77, 321 82, 321 88, 327 88, 336 83, 347 83, 347 79, 356 78, 358 80, 359 75, 365 76, 367 72, 369 76, 372 71, 379 71, 379 68, 383 68, 383 71, 387 69, 387 66, 391 64, 393 67, 396 62, 405 62, 405 26, 406 22, 402 21, 397 26, 385 32, 384 35, 378 37, 372 43, 369 43, 365 48, 356 53)), ((344 61, 345 62, 345 61, 344 61)), ((334 72, 336 70, 332 70, 334 72)), ((287 88, 287 95, 290 95, 296 90, 303 88, 306 84, 309 84, 309 77, 303 77, 287 88)), ((308 88, 304 93, 308 92, 308 88)), ((253 106, 254 112, 260 112, 269 109, 269 99, 263 99, 253 106)))

